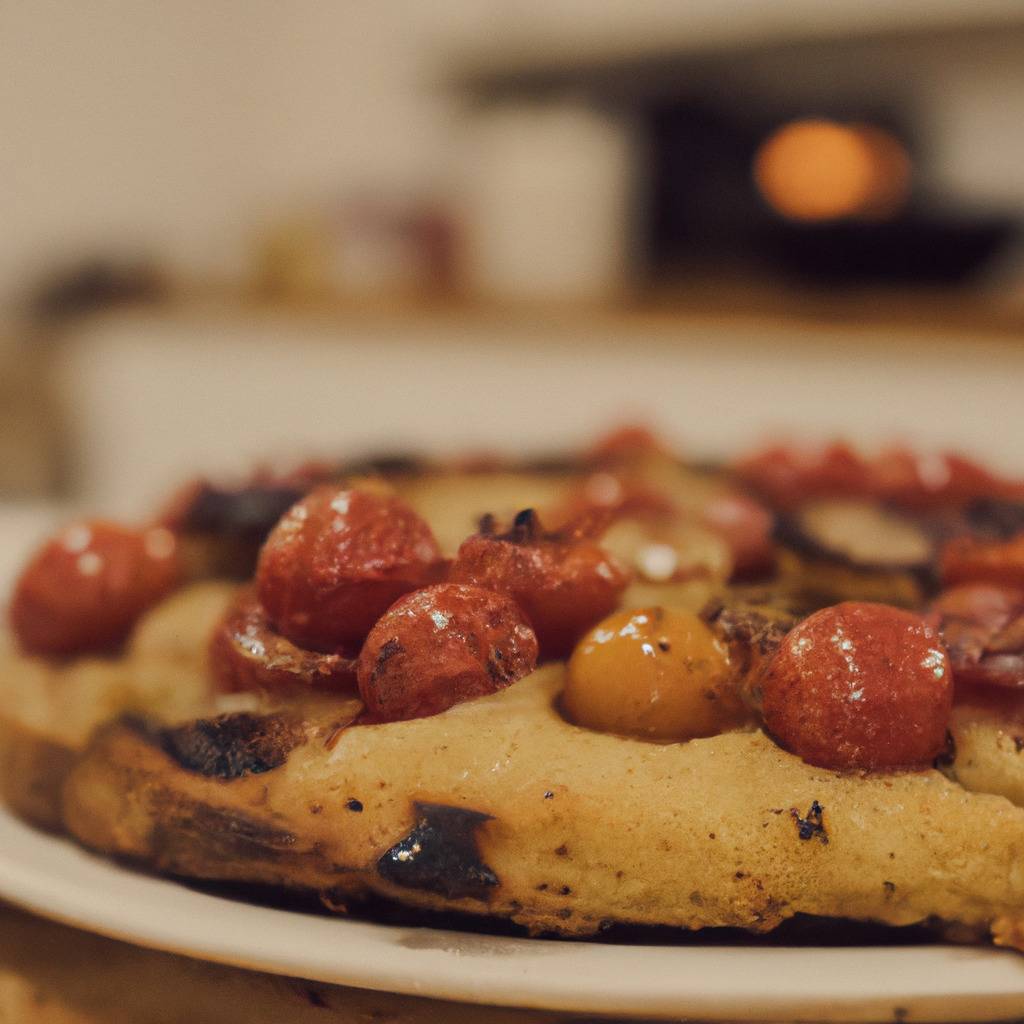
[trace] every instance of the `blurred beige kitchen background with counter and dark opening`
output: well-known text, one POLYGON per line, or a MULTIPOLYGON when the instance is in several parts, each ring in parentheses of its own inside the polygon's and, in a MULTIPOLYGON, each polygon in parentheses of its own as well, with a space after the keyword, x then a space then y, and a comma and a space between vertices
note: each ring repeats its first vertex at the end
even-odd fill
POLYGON ((0 83, 0 495, 635 411, 1016 457, 1020 3, 38 0, 0 83))

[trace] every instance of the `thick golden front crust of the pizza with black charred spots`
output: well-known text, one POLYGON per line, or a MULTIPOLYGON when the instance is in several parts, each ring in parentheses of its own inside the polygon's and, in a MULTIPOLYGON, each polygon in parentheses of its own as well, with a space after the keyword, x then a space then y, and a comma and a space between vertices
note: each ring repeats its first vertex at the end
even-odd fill
POLYGON ((229 781, 115 725, 72 771, 67 823, 173 873, 340 903, 375 893, 562 934, 609 922, 766 931, 798 912, 987 927, 1024 911, 1024 810, 1000 797, 931 770, 811 768, 761 732, 666 745, 587 732, 554 710, 560 685, 552 667, 333 745, 323 709, 283 765, 229 781))

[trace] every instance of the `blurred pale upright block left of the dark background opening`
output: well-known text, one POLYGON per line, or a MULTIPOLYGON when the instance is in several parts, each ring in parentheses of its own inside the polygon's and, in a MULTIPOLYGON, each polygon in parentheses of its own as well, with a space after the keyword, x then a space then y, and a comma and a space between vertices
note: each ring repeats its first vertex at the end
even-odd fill
POLYGON ((462 213, 466 283, 497 300, 605 301, 628 285, 636 146, 575 100, 477 111, 462 213))

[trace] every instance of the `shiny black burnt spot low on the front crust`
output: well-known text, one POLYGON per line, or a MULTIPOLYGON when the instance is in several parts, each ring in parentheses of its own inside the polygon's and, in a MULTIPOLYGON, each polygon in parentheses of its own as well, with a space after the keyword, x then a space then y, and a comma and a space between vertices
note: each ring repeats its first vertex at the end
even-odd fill
POLYGON ((377 861, 381 878, 447 899, 486 900, 500 882, 480 857, 476 829, 492 815, 445 804, 413 806, 412 831, 377 861))

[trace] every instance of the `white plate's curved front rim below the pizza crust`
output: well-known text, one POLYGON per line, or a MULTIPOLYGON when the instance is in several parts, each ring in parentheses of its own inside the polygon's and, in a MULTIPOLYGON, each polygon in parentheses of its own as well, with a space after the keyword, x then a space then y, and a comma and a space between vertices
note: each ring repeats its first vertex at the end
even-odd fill
POLYGON ((957 946, 624 946, 270 909, 92 856, 0 809, 0 895, 156 949, 392 992, 602 1015, 989 1021, 1024 1016, 1024 956, 957 946))

